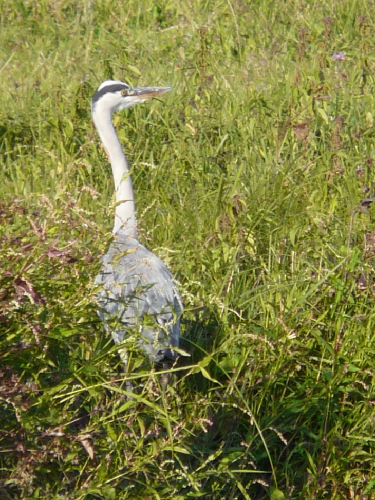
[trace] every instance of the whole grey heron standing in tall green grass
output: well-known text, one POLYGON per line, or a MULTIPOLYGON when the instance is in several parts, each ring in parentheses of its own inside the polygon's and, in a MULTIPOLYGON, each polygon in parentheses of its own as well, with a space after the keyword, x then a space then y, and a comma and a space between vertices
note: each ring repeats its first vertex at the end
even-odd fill
MULTIPOLYGON (((171 271, 138 240, 132 178, 111 115, 171 88, 106 80, 91 100, 92 120, 110 160, 116 193, 114 240, 95 279, 100 287, 98 314, 116 344, 135 336, 149 360, 164 368, 177 357, 181 297, 171 271)), ((126 367, 126 347, 120 346, 119 353, 126 367)), ((126 386, 131 390, 130 384, 126 386)))

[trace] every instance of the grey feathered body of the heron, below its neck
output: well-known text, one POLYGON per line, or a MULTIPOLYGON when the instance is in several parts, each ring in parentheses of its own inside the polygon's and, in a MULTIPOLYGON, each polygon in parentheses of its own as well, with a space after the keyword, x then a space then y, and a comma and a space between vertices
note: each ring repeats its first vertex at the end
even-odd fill
POLYGON ((139 344, 151 359, 175 358, 182 303, 172 273, 156 255, 139 243, 114 244, 102 258, 95 281, 101 286, 99 316, 107 328, 106 320, 118 322, 112 331, 115 342, 137 329, 139 344))

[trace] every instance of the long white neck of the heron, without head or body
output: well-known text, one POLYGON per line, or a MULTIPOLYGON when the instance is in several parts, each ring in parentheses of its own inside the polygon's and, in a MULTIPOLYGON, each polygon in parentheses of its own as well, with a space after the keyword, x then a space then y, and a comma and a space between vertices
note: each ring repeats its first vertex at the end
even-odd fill
POLYGON ((137 221, 134 205, 132 178, 126 156, 111 120, 111 113, 98 102, 92 114, 93 122, 102 140, 112 166, 115 182, 116 211, 113 232, 124 227, 129 236, 137 238, 137 221))

